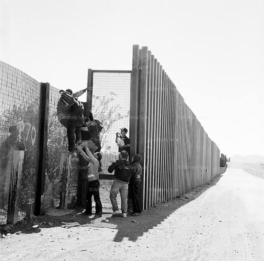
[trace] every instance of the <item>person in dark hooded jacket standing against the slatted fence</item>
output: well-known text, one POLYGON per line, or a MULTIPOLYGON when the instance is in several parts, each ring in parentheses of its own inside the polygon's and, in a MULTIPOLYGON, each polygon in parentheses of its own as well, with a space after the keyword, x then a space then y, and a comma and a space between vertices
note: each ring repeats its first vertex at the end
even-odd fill
POLYGON ((133 206, 132 216, 138 216, 138 214, 142 212, 138 198, 142 175, 142 167, 140 165, 141 160, 142 157, 140 154, 134 154, 132 156, 131 178, 129 182, 129 194, 133 206))

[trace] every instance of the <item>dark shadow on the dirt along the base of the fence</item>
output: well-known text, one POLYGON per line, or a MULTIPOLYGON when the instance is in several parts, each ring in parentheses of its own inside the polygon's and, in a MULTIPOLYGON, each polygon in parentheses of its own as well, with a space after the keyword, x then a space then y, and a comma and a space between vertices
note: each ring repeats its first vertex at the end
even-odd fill
POLYGON ((214 186, 220 180, 221 176, 222 175, 216 177, 214 181, 210 182, 210 184, 194 188, 176 199, 172 199, 165 203, 159 203, 156 207, 145 210, 140 216, 137 217, 133 217, 129 214, 127 218, 122 218, 121 216, 112 217, 111 208, 104 208, 103 216, 101 218, 95 218, 94 215, 90 218, 81 215, 83 210, 82 208, 72 210, 71 212, 70 210, 60 210, 61 213, 66 211, 68 214, 62 216, 51 216, 51 213, 51 215, 45 215, 43 217, 21 220, 13 226, 1 226, 0 232, 4 234, 17 233, 22 235, 40 233, 42 228, 50 227, 63 227, 65 229, 70 229, 73 227, 97 227, 117 230, 117 233, 113 239, 115 242, 121 242, 124 238, 135 241, 139 237, 142 237, 144 233, 147 233, 158 224, 161 224, 162 221, 168 218, 177 209, 193 201, 207 189, 214 186), (33 226, 36 225, 38 227, 34 228, 33 226))

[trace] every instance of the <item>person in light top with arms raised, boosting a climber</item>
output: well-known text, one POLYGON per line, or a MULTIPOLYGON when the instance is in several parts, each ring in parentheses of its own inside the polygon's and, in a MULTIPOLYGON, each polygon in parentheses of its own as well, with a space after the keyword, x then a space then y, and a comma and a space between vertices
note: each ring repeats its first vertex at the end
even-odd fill
POLYGON ((81 156, 89 162, 88 164, 88 191, 86 196, 86 208, 84 215, 92 215, 92 201, 93 196, 95 201, 95 217, 102 217, 102 203, 100 200, 100 182, 99 182, 99 168, 101 165, 102 154, 100 152, 91 153, 88 149, 87 142, 83 142, 82 146, 78 146, 77 150, 80 152, 81 156), (86 153, 83 151, 82 147, 85 148, 86 153))

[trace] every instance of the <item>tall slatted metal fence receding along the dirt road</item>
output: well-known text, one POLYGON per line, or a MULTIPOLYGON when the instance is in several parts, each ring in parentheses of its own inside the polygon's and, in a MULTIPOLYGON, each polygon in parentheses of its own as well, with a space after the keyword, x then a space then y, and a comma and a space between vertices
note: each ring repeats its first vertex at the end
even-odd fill
POLYGON ((131 154, 143 156, 143 209, 219 175, 220 151, 148 47, 133 45, 131 154))

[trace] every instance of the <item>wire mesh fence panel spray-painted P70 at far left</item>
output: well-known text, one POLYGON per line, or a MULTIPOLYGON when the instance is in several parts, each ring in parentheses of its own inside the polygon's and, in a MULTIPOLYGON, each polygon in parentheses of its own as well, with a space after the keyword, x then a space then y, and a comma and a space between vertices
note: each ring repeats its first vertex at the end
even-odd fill
POLYGON ((14 150, 25 150, 18 219, 34 202, 40 83, 0 62, 0 93, 0 223, 5 223, 14 150))

